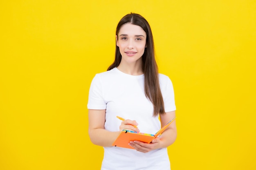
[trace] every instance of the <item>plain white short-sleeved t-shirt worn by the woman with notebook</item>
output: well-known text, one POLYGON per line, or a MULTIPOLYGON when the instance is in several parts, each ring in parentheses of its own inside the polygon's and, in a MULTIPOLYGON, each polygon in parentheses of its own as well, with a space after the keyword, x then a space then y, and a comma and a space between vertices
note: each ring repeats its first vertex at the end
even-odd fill
MULTIPOLYGON (((165 112, 176 110, 173 85, 169 77, 159 74, 165 112)), ((136 120, 140 132, 155 134, 161 123, 153 116, 153 105, 144 93, 144 75, 129 75, 113 68, 96 74, 92 80, 88 109, 106 109, 105 129, 119 131, 121 120, 136 120)), ((147 153, 134 149, 104 147, 101 170, 170 170, 167 149, 147 153)))

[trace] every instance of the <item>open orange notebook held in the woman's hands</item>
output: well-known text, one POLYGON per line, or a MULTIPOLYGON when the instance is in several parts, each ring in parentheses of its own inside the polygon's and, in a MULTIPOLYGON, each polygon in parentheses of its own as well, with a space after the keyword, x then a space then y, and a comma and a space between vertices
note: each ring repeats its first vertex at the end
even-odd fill
POLYGON ((146 143, 150 143, 155 137, 158 137, 161 135, 162 132, 176 119, 174 117, 171 119, 171 121, 168 122, 165 126, 163 126, 158 132, 156 132, 154 135, 153 134, 146 134, 146 133, 141 133, 141 132, 135 132, 132 130, 123 130, 117 139, 114 141, 112 146, 117 146, 117 147, 122 147, 122 148, 129 148, 129 149, 134 149, 128 144, 130 141, 143 141, 146 143))

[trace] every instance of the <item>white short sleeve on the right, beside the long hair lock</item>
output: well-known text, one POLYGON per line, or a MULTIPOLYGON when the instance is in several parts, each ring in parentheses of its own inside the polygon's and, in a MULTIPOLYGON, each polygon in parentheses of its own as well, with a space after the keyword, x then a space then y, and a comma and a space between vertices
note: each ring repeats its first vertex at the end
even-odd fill
POLYGON ((171 82, 171 79, 166 75, 162 75, 159 77, 159 80, 162 96, 164 99, 165 112, 176 110, 173 83, 171 82))

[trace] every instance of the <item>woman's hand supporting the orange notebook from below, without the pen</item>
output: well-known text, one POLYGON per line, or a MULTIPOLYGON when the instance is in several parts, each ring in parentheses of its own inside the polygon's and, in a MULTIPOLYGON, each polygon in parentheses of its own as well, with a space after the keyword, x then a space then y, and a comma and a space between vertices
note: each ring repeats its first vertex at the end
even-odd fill
POLYGON ((158 137, 156 137, 155 139, 153 139, 153 141, 151 143, 144 143, 141 141, 130 141, 129 145, 132 146, 133 148, 135 148, 135 150, 139 151, 139 152, 149 152, 151 150, 155 150, 160 148, 160 139, 158 137))

